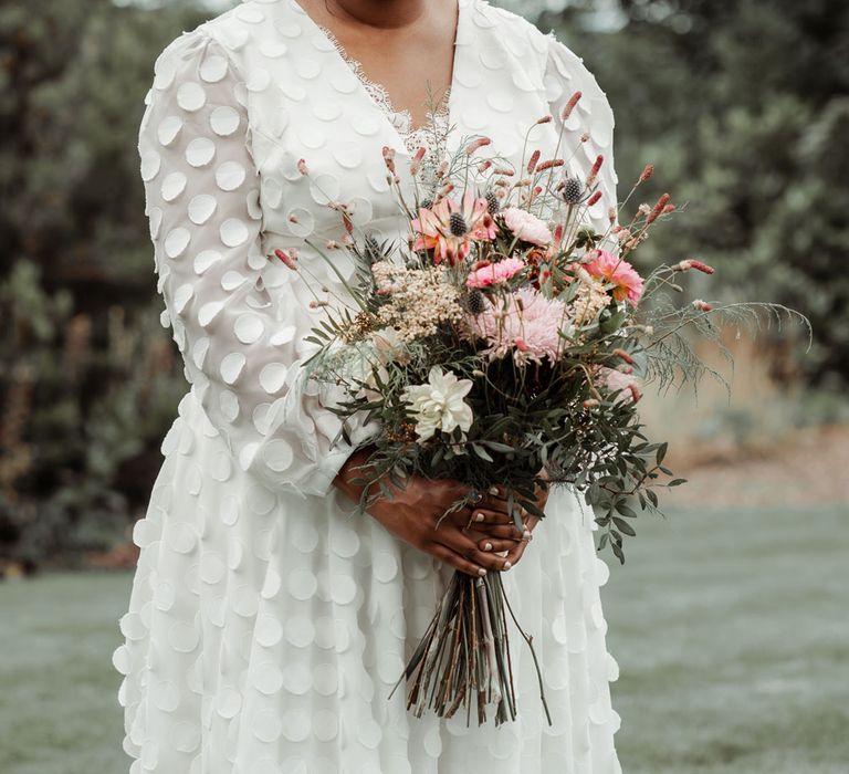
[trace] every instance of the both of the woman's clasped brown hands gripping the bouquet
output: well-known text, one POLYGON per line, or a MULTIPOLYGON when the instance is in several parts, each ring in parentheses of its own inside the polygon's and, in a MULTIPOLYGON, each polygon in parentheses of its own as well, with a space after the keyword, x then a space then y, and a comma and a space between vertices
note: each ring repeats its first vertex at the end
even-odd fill
MULTIPOLYGON (((363 487, 352 479, 363 475, 355 470, 364 464, 368 448, 352 454, 339 470, 334 484, 358 501, 363 487)), ((388 481, 387 481, 388 483, 388 481)), ((538 517, 522 509, 524 531, 516 529, 507 512, 507 492, 497 487, 474 506, 463 508, 440 521, 446 509, 469 490, 450 479, 429 481, 412 478, 403 489, 391 484, 394 498, 381 498, 368 511, 399 540, 446 562, 455 569, 479 577, 481 571, 504 571, 515 566, 525 553, 538 517), (506 552, 501 556, 497 552, 506 552)), ((538 490, 537 505, 545 510, 548 494, 538 490)))

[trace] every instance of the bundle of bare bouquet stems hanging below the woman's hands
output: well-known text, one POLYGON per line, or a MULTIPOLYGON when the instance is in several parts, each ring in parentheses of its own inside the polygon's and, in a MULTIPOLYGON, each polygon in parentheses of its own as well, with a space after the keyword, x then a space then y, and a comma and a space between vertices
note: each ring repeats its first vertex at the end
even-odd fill
MULTIPOLYGON (((407 709, 412 710, 417 718, 421 718, 428 707, 443 719, 453 717, 463 708, 468 725, 474 705, 478 723, 483 724, 486 722, 486 707, 494 705, 496 726, 515 720, 516 694, 507 637, 507 611, 515 621, 500 573, 474 578, 454 572, 424 636, 389 695, 407 679, 407 709)), ((539 694, 551 725, 552 718, 532 638, 524 631, 522 636, 534 657, 539 694)))

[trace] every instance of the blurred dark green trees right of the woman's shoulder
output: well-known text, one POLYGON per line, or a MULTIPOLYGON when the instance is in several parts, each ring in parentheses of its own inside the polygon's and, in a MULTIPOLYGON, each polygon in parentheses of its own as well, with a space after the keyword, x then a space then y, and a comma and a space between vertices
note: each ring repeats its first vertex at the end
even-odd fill
POLYGON ((610 96, 621 194, 653 161, 650 190, 685 205, 642 259, 696 250, 720 270, 710 283, 696 278, 699 290, 800 310, 816 337, 800 367, 815 384, 843 385, 849 3, 620 0, 619 10, 616 34, 588 22, 598 3, 539 21, 610 96))

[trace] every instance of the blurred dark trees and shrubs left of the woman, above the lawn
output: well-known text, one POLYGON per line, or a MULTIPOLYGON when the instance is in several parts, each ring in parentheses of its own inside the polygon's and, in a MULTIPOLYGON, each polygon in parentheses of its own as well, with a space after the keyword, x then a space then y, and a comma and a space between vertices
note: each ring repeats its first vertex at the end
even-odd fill
POLYGON ((154 59, 203 17, 0 2, 0 565, 106 547, 149 495, 185 381, 136 138, 154 59))

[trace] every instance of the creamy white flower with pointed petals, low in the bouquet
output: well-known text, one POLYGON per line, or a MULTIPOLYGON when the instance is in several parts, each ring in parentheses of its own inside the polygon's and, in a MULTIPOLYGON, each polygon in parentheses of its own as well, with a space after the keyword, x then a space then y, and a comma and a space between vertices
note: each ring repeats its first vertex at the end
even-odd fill
POLYGON ((455 427, 465 433, 473 417, 472 407, 463 398, 471 388, 471 379, 458 379, 452 372, 443 373, 439 366, 430 369, 428 384, 407 387, 401 399, 412 406, 419 439, 424 441, 437 430, 451 432, 455 427))

